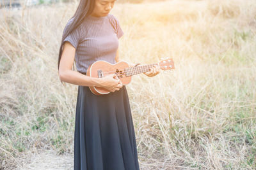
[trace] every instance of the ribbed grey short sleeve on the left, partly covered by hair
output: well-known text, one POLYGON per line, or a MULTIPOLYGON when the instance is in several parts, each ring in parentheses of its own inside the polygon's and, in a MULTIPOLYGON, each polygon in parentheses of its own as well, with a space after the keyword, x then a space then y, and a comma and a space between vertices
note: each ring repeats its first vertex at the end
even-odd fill
MULTIPOLYGON (((73 18, 71 18, 70 20, 68 20, 67 25, 65 26, 65 29, 63 31, 63 35, 65 34, 65 32, 67 31, 67 28, 70 26, 70 24, 72 23, 73 18)), ((72 32, 70 32, 68 34, 68 36, 63 40, 63 43, 65 41, 68 41, 71 43, 72 46, 74 46, 74 48, 77 48, 78 43, 79 43, 79 27, 77 27, 76 29, 74 29, 72 32)))

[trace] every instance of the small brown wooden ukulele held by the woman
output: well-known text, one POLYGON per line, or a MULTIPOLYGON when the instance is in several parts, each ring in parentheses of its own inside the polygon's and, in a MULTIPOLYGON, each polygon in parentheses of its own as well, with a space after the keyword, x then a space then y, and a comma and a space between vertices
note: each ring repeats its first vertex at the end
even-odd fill
MULTIPOLYGON (((123 85, 127 85, 131 82, 131 76, 135 74, 145 73, 150 71, 150 67, 159 66, 163 70, 171 70, 175 69, 174 62, 172 59, 162 60, 157 64, 148 64, 143 66, 129 67, 129 64, 125 61, 117 62, 116 64, 111 64, 104 60, 98 60, 93 62, 91 66, 88 67, 86 75, 95 77, 95 78, 103 78, 109 74, 115 73, 116 76, 122 81, 123 85)), ((97 96, 101 96, 104 94, 109 94, 110 91, 104 89, 103 87, 89 87, 93 94, 97 96)))

